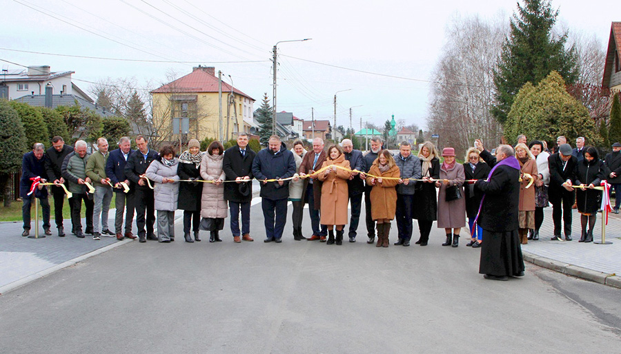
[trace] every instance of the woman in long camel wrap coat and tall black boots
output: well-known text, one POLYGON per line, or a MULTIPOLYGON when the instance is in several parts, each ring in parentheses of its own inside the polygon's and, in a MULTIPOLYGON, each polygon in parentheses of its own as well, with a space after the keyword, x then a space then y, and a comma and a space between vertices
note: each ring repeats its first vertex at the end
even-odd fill
MULTIPOLYGON (((345 154, 339 145, 328 147, 328 158, 322 164, 322 168, 333 165, 350 168, 349 161, 345 160, 345 154)), ((349 202, 347 187, 349 176, 351 176, 350 171, 337 167, 330 167, 317 176, 322 181, 320 222, 328 226, 328 244, 334 243, 334 225, 337 229, 336 244, 343 244, 343 227, 347 223, 347 203, 349 202)))

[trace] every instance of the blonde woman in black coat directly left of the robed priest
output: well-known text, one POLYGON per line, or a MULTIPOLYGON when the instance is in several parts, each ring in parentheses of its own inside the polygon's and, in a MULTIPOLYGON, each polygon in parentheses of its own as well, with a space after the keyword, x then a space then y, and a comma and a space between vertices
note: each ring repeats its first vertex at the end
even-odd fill
MULTIPOLYGON (((484 180, 489 175, 491 168, 479 156, 479 150, 471 147, 466 152, 466 162, 464 163, 464 174, 466 180, 484 180)), ((471 240, 466 246, 473 248, 481 247, 483 228, 477 225, 477 229, 473 231, 474 220, 479 212, 483 193, 474 188, 474 183, 469 182, 464 188, 466 194, 466 216, 468 216, 468 225, 470 225, 471 240)))

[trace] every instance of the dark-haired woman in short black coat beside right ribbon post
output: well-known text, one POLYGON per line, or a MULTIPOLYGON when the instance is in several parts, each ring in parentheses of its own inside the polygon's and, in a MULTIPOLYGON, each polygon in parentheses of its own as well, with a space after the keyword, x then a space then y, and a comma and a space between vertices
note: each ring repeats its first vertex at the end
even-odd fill
POLYGON ((602 191, 593 188, 598 187, 604 179, 604 163, 598 158, 598 150, 595 147, 584 149, 584 160, 575 165, 573 171, 575 178, 573 185, 582 186, 582 188, 575 189, 575 204, 580 212, 580 225, 582 226, 582 234, 578 242, 591 242, 598 209, 602 203, 602 191), (589 232, 586 232, 587 221, 589 232))

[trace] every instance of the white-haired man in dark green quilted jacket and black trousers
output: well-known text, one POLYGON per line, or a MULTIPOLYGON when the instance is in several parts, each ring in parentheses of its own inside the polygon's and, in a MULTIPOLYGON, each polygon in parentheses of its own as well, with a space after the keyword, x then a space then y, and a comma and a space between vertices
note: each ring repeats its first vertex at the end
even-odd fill
POLYGON ((84 238, 82 233, 82 200, 84 200, 84 206, 86 207, 86 233, 92 233, 92 209, 93 202, 92 196, 87 194, 86 183, 91 183, 92 180, 86 176, 86 162, 88 161, 88 154, 86 152, 86 141, 77 140, 74 145, 74 152, 67 155, 63 161, 61 171, 63 177, 69 181, 69 191, 73 194, 69 202, 73 204, 71 211, 71 223, 73 225, 73 233, 77 238, 84 238))

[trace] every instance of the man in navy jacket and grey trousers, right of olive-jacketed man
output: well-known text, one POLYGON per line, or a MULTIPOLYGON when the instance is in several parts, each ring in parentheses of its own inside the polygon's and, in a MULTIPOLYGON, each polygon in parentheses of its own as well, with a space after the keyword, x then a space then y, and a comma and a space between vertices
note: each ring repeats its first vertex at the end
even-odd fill
POLYGON ((115 233, 117 234, 117 240, 136 238, 136 236, 132 234, 134 190, 130 189, 130 191, 124 193, 124 188, 121 186, 121 182, 130 185, 129 179, 125 176, 125 165, 132 152, 134 152, 134 150, 132 150, 131 141, 127 136, 124 136, 119 139, 119 148, 110 152, 110 156, 106 162, 106 176, 110 178, 110 183, 115 186, 115 193, 117 194, 115 198, 115 207, 117 208, 117 213, 115 214, 115 233), (121 233, 124 211, 126 211, 125 233, 121 233))

